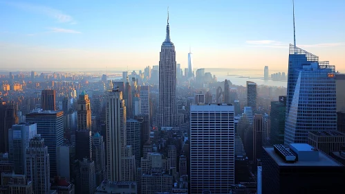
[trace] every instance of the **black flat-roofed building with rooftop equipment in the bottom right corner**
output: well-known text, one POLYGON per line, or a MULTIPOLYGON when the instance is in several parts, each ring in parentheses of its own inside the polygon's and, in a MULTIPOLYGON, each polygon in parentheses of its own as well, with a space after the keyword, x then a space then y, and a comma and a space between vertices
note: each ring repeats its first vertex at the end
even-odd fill
POLYGON ((339 193, 345 167, 306 143, 263 147, 262 193, 339 193))

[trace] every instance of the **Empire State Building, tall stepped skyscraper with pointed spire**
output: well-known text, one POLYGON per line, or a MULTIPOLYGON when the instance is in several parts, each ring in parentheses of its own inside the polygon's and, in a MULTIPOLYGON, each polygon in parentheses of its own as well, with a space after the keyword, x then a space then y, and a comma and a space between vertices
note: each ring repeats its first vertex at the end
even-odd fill
POLYGON ((176 105, 176 51, 170 40, 169 15, 167 35, 162 43, 159 60, 159 108, 158 129, 177 124, 176 105))

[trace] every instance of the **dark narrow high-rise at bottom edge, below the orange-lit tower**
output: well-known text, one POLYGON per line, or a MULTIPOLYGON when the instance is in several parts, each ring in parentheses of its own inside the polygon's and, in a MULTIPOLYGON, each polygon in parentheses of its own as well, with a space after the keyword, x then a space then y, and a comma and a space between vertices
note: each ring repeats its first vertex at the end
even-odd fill
POLYGON ((93 194, 96 190, 95 162, 84 158, 80 165, 80 193, 93 194))

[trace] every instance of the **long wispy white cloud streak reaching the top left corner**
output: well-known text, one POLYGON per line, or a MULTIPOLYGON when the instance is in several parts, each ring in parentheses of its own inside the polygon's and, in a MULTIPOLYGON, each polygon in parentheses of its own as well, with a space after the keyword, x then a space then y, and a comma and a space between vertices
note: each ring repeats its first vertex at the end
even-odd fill
POLYGON ((10 6, 14 6, 15 8, 19 8, 21 10, 26 10, 28 12, 35 12, 42 15, 48 15, 49 17, 53 17, 54 19, 62 23, 76 23, 76 21, 74 21, 73 17, 71 17, 70 15, 67 15, 60 10, 55 10, 53 8, 49 8, 46 6, 38 6, 30 3, 19 3, 12 1, 8 1, 7 4, 10 6))

